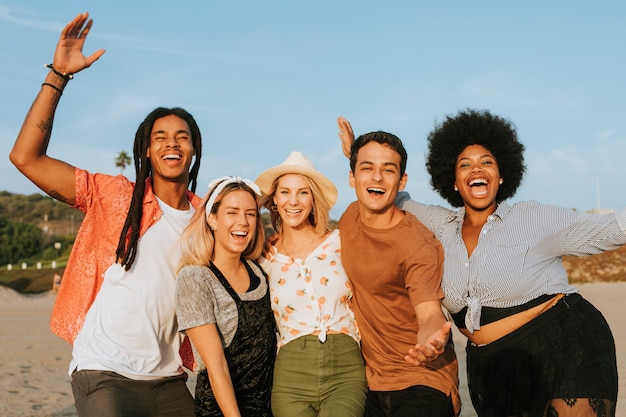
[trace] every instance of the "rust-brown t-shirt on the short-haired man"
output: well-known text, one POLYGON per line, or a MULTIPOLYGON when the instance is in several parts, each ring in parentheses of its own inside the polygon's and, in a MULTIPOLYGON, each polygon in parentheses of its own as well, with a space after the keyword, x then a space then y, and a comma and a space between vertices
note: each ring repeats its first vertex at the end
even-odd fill
POLYGON ((416 367, 404 360, 417 343, 414 306, 441 300, 443 249, 415 216, 388 229, 361 222, 359 203, 339 221, 341 260, 352 285, 352 308, 372 391, 396 391, 426 385, 452 397, 460 410, 458 363, 454 346, 436 361, 416 367))

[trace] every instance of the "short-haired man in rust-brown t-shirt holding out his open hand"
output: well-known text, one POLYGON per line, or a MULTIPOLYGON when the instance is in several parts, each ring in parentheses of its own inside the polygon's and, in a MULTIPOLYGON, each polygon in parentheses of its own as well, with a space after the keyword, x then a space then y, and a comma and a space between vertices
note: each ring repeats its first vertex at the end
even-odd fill
POLYGON ((392 134, 368 133, 354 142, 350 168, 357 201, 339 229, 367 366, 365 416, 456 416, 458 364, 441 310, 443 250, 394 204, 407 181, 406 150, 392 134))

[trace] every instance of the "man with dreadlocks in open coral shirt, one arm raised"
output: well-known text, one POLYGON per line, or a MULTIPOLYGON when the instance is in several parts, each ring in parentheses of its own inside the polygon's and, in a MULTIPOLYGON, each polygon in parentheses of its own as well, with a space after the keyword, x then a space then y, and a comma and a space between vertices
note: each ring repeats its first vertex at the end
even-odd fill
POLYGON ((193 416, 173 265, 180 257, 175 242, 200 203, 193 193, 200 131, 181 108, 152 111, 135 135, 135 183, 49 157, 65 86, 104 53, 83 55, 92 23, 84 13, 63 29, 10 155, 41 190, 85 213, 51 327, 73 344, 69 372, 79 416, 193 416))

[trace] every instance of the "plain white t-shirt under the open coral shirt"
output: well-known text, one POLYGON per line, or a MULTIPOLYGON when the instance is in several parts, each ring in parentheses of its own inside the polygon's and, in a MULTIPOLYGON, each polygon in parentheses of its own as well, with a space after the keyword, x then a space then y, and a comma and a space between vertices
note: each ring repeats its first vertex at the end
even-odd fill
POLYGON ((74 341, 70 375, 89 369, 153 379, 183 372, 174 267, 180 259, 178 238, 194 210, 158 202, 161 218, 139 239, 132 268, 125 271, 115 263, 105 272, 74 341))

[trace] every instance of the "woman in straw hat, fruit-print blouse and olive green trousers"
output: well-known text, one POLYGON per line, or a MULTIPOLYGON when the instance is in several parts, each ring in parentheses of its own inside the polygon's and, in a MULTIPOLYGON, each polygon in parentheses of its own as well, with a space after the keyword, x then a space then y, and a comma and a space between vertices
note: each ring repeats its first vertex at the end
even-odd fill
POLYGON ((292 152, 256 180, 278 239, 262 263, 279 330, 275 417, 360 417, 367 383, 352 296, 329 227, 337 188, 302 153, 292 152))

